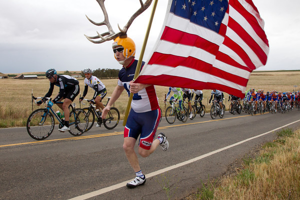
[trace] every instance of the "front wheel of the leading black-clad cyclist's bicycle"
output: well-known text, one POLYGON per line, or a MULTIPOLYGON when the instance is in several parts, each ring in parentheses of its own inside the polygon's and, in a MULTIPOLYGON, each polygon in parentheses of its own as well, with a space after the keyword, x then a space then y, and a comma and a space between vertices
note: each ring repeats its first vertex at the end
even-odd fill
POLYGON ((45 139, 54 129, 54 117, 51 112, 46 113, 46 110, 45 108, 36 109, 27 119, 27 132, 33 139, 45 139))

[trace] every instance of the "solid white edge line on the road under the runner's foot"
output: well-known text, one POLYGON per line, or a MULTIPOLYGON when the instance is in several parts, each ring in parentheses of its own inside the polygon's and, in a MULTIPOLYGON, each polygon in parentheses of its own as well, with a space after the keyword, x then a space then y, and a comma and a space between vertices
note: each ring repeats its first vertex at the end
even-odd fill
MULTIPOLYGON (((204 158, 204 157, 213 155, 213 154, 215 154, 215 153, 218 153, 218 152, 220 152, 220 151, 226 150, 226 149, 231 148, 231 147, 233 147, 233 146, 237 146, 237 145, 239 145, 239 144, 241 144, 241 143, 244 143, 244 142, 247 142, 247 141, 249 141, 249 140, 255 139, 255 138, 257 138, 257 137, 263 136, 263 135, 268 134, 268 133, 270 133, 270 132, 276 131, 276 130, 278 130, 278 129, 280 129, 280 128, 286 127, 286 126, 288 126, 288 125, 290 125, 290 124, 293 124, 293 123, 296 123, 296 122, 298 122, 298 121, 300 121, 300 119, 299 119, 299 120, 296 120, 296 121, 294 121, 294 122, 288 123, 288 124, 286 124, 286 125, 280 126, 280 127, 278 127, 278 128, 272 129, 272 130, 270 130, 270 131, 264 132, 264 133, 262 133, 262 134, 259 134, 259 135, 250 137, 250 138, 248 138, 248 139, 244 139, 244 140, 239 141, 239 142, 236 142, 236 143, 231 144, 231 145, 229 145, 229 146, 225 146, 225 147, 223 147, 223 148, 219 148, 219 149, 217 149, 217 150, 211 151, 211 152, 206 153, 206 154, 204 154, 204 155, 200 155, 200 156, 198 156, 198 157, 195 157, 195 158, 186 160, 186 161, 184 161, 184 162, 180 162, 180 163, 178 163, 178 164, 175 164, 175 165, 172 165, 172 166, 168 166, 168 167, 166 167, 166 168, 159 169, 159 170, 157 170, 157 171, 153 171, 153 172, 151 172, 151 173, 145 174, 145 176, 146 176, 146 177, 152 177, 152 176, 158 175, 158 174, 160 174, 160 173, 164 173, 164 172, 166 172, 166 171, 169 171, 169 170, 171 170, 171 169, 178 168, 178 167, 180 167, 180 166, 183 166, 183 165, 189 164, 189 163, 191 163, 191 162, 197 161, 197 160, 199 160, 199 159, 202 159, 202 158, 204 158)), ((111 185, 111 186, 109 186, 109 187, 105 187, 105 188, 102 188, 102 189, 99 189, 99 190, 96 190, 96 191, 92 191, 92 192, 89 192, 89 193, 86 193, 86 194, 83 194, 83 195, 80 195, 80 196, 76 196, 76 197, 70 198, 69 200, 84 200, 84 199, 87 199, 87 198, 91 198, 91 197, 93 197, 93 196, 100 195, 100 194, 105 193, 105 192, 107 192, 107 191, 112 191, 112 190, 114 190, 114 189, 118 189, 118 188, 120 188, 120 187, 123 187, 123 186, 126 185, 127 182, 130 182, 131 180, 132 180, 132 179, 126 180, 126 181, 124 181, 124 182, 121 182, 121 183, 118 183, 118 184, 115 184, 115 185, 111 185)))

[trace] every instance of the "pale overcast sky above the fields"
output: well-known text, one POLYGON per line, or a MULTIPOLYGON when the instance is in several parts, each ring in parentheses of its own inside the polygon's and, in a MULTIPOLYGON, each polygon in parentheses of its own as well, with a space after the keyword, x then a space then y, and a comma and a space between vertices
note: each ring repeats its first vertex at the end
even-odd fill
MULTIPOLYGON (((145 1, 145 0, 143 0, 145 1)), ((265 66, 257 70, 300 69, 299 0, 252 0, 264 19, 269 41, 265 66)), ((153 6, 137 16, 127 31, 136 45, 136 58, 144 41, 153 6)), ((118 31, 140 7, 139 0, 106 0, 110 24, 118 31)), ((167 0, 158 0, 143 60, 150 56, 166 12, 167 0)), ((77 71, 86 67, 120 68, 111 50, 112 40, 95 44, 84 34, 107 31, 89 22, 104 19, 96 0, 0 0, 0 72, 77 71)))

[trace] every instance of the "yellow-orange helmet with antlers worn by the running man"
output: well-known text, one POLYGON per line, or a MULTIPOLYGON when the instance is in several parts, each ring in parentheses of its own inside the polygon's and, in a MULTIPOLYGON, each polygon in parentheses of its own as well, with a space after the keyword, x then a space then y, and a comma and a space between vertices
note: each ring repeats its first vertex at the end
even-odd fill
MULTIPOLYGON (((125 58, 128 58, 130 56, 133 56, 135 55, 135 43, 134 41, 130 38, 130 37, 116 37, 114 39, 114 42, 112 43, 112 48, 115 48, 116 46, 123 46, 124 47, 124 50, 123 50, 123 55, 125 58)), ((115 57, 115 54, 114 54, 114 58, 116 59, 115 57)))

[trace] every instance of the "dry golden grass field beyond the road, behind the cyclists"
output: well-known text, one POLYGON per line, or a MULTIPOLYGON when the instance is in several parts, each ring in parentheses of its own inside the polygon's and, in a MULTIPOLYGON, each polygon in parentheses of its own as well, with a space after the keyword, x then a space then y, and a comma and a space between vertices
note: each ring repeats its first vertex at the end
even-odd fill
MULTIPOLYGON (((29 72, 28 72, 29 73, 29 72)), ((32 72, 30 72, 31 74, 32 72)), ((292 91, 299 90, 300 87, 300 71, 272 71, 272 72, 253 72, 248 81, 247 88, 254 87, 255 89, 266 90, 281 90, 292 91), (296 86, 295 86, 296 85, 296 86)), ((78 79, 80 82, 80 93, 84 89, 83 78, 78 79)), ((107 95, 110 96, 117 79, 103 79, 103 83, 107 89, 107 95)), ((44 96, 49 87, 49 81, 46 78, 38 78, 35 80, 23 79, 0 79, 0 127, 24 126, 28 115, 32 109, 37 109, 36 105, 31 104, 31 93, 34 96, 44 96)), ((162 112, 165 110, 164 94, 168 91, 168 87, 156 86, 157 96, 162 112)), ((210 97, 211 90, 203 90, 203 103, 206 105, 206 111, 210 107, 207 105, 207 99, 210 97)), ((58 92, 58 87, 54 88, 53 96, 58 92)), ((91 98, 93 90, 89 88, 86 98, 91 98)), ((224 94, 228 98, 228 94, 224 94)), ((79 104, 79 95, 75 99, 76 107, 85 107, 86 105, 79 104)), ((124 91, 120 98, 115 102, 123 119, 124 112, 127 106, 128 95, 124 91)), ((106 103, 106 98, 103 100, 106 103)), ((225 104, 226 105, 226 104, 225 104)), ((43 106, 43 105, 41 105, 43 106)), ((54 105, 56 106, 56 105, 54 105)), ((226 107, 228 107, 226 105, 226 107)), ((57 107, 55 107, 56 109, 57 107)), ((57 108, 58 109, 58 108, 57 108)))

